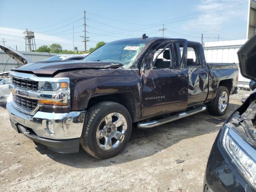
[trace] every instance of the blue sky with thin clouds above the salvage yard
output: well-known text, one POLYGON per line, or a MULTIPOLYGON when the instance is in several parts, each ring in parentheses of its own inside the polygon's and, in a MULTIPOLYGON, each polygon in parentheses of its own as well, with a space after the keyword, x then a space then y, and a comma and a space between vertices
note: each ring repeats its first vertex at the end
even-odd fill
MULTIPOLYGON (((25 50, 23 34, 35 32, 36 46, 59 43, 84 50, 83 11, 86 10, 88 48, 99 41, 164 36, 204 41, 246 38, 248 0, 0 0, 0 40, 25 50)), ((0 42, 0 44, 3 44, 0 42)))

